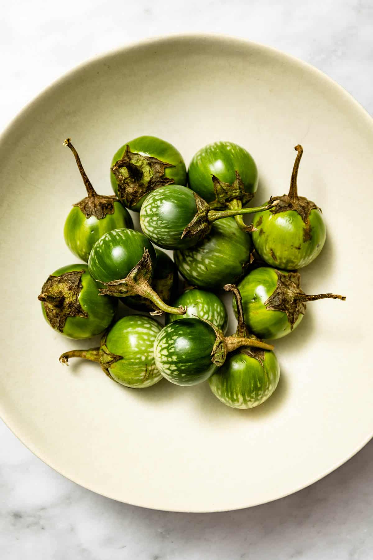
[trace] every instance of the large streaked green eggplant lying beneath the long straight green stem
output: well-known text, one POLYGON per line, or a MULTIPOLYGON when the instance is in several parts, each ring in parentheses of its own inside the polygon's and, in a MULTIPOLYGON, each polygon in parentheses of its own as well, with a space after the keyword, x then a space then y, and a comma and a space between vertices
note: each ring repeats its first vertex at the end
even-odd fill
POLYGON ((196 246, 175 251, 174 261, 192 286, 219 290, 243 277, 251 251, 250 236, 230 217, 214 222, 210 233, 196 246))

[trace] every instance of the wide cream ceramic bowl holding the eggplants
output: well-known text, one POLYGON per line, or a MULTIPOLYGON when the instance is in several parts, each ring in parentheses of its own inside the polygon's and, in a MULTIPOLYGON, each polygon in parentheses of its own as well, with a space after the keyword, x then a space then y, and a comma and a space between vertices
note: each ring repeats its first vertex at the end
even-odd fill
POLYGON ((336 83, 242 40, 155 39, 64 76, 0 146, 0 410, 47 464, 120 501, 231 510, 311 484, 371 438, 373 125, 336 83), (36 300, 48 274, 75 261, 63 225, 83 185, 62 142, 72 137, 93 185, 110 194, 112 155, 141 134, 167 139, 187 163, 206 143, 242 144, 258 165, 258 203, 287 192, 294 146, 304 147, 299 191, 322 207, 328 234, 302 272, 303 289, 347 301, 309 304, 299 328, 276 342, 280 384, 257 409, 225 407, 208 384, 129 390, 94 363, 58 362, 92 346, 53 332, 36 300))

